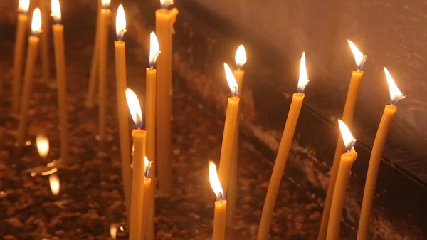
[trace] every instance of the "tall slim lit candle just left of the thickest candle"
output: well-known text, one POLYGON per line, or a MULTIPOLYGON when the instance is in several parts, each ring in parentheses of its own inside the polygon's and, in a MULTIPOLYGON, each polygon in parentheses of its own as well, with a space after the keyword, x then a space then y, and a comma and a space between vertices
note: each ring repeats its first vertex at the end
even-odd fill
MULTIPOLYGON (((147 156, 150 160, 156 161, 156 82, 157 82, 157 71, 154 68, 157 61, 157 56, 159 56, 159 42, 157 41, 157 37, 155 33, 150 34, 150 51, 149 51, 149 68, 146 69, 145 75, 145 96, 146 96, 146 129, 147 129, 147 156)), ((146 239, 152 240, 154 239, 154 221, 150 221, 154 219, 154 197, 156 192, 156 184, 155 184, 155 165, 152 166, 152 170, 150 171, 150 176, 152 178, 152 184, 150 188, 149 194, 149 208, 148 208, 148 216, 149 221, 147 221, 147 231, 146 231, 146 239)), ((162 172, 162 171, 161 171, 162 172)), ((164 173, 164 172, 162 172, 164 173)))

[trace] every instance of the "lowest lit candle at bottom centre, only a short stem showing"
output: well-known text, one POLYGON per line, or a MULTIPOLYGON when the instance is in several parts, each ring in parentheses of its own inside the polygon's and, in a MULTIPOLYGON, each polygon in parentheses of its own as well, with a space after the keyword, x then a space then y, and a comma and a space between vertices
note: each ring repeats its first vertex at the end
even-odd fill
POLYGON ((227 200, 225 191, 223 191, 221 182, 219 182, 216 165, 212 161, 209 162, 209 182, 211 182, 211 187, 216 195, 212 240, 223 240, 226 237, 227 200))

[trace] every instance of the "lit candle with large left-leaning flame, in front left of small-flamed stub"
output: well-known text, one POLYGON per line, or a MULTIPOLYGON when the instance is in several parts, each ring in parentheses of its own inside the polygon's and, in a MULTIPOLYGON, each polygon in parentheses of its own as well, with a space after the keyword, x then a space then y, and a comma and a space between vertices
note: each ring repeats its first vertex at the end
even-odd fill
POLYGON ((142 212, 144 202, 144 157, 147 132, 142 130, 142 112, 137 95, 127 88, 127 104, 137 129, 132 130, 133 137, 133 174, 132 174, 132 199, 130 202, 129 239, 140 240, 142 236, 142 212))

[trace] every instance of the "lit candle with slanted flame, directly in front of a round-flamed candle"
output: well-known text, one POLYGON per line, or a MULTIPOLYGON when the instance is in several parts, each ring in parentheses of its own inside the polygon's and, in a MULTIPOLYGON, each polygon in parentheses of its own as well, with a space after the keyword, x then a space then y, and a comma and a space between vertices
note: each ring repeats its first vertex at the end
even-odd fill
POLYGON ((226 122, 224 124, 223 141, 221 145, 221 156, 219 160, 219 180, 224 188, 224 192, 227 193, 228 186, 228 175, 230 172, 231 155, 233 150, 233 138, 236 131, 236 122, 238 117, 238 108, 240 98, 238 97, 238 85, 236 78, 234 78, 233 72, 227 63, 224 63, 224 70, 226 72, 226 78, 228 86, 230 87, 233 97, 228 98, 226 122))

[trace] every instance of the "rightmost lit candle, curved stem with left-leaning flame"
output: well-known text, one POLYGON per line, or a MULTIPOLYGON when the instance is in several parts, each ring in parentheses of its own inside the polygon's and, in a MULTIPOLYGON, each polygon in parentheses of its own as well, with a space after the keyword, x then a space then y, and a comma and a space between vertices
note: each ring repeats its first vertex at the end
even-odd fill
POLYGON ((397 106, 395 105, 399 100, 405 98, 396 83, 394 83, 387 68, 384 68, 386 73, 387 83, 389 83, 391 105, 386 105, 381 121, 379 122, 378 130, 372 147, 371 157, 369 159, 369 167, 367 173, 367 181, 363 193, 362 211, 359 219, 359 229, 357 230, 357 240, 368 239, 369 234, 369 219, 371 217, 372 204, 374 203, 374 194, 376 187, 376 179, 378 178, 379 165, 381 163, 381 155, 386 145, 387 135, 391 121, 396 114, 397 106))

